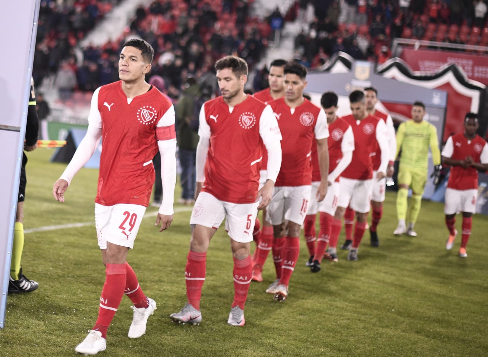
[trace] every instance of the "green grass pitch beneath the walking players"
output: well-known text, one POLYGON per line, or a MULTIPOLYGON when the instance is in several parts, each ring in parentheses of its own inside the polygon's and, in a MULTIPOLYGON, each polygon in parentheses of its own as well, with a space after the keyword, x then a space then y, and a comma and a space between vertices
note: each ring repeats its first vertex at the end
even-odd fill
MULTIPOLYGON (((61 204, 52 185, 64 165, 49 162, 54 150, 29 153, 25 230, 71 223, 89 225, 25 234, 24 273, 40 287, 9 295, 0 356, 73 356, 93 327, 104 267, 97 246, 94 197, 97 170, 82 169, 61 204)), ((178 194, 178 193, 177 193, 178 194)), ((207 253, 200 326, 177 325, 169 315, 185 303, 184 266, 190 211, 179 212, 159 233, 154 216, 142 222, 128 261, 144 292, 158 304, 146 335, 129 339, 131 302, 123 298, 100 356, 487 356, 488 250, 486 216, 476 215, 468 258, 457 256, 460 237, 446 251, 441 204, 423 202, 418 237, 394 237, 395 196, 388 192, 379 226, 380 248, 369 246, 359 261, 322 264, 310 273, 301 240, 299 263, 283 303, 264 290, 274 280, 270 257, 264 282, 251 283, 244 327, 227 325, 233 297, 229 238, 220 229, 207 253)), ((147 213, 156 212, 149 208, 147 213)), ((461 231, 461 217, 457 229, 461 231)), ((341 236, 339 243, 344 240, 341 236)), ((254 248, 254 247, 253 247, 254 248)))

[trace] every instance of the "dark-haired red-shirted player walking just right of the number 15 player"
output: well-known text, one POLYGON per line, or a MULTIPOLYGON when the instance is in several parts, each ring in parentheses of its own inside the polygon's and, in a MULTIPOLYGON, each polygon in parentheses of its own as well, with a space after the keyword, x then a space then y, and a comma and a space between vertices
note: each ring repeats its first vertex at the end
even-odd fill
POLYGON ((317 201, 315 192, 320 185, 320 167, 316 145, 312 145, 312 194, 308 203, 305 217, 305 241, 310 255, 307 261, 310 271, 320 272, 320 264, 324 256, 332 261, 338 261, 336 248, 330 248, 325 253, 332 229, 332 219, 337 209, 339 200, 339 178, 352 160, 354 150, 354 134, 351 126, 336 115, 338 97, 334 92, 326 92, 322 95, 320 104, 327 117, 329 138, 327 140, 329 153, 328 189, 325 199, 317 201), (315 217, 320 212, 320 231, 315 246, 315 217), (325 254, 325 255, 324 255, 325 254))

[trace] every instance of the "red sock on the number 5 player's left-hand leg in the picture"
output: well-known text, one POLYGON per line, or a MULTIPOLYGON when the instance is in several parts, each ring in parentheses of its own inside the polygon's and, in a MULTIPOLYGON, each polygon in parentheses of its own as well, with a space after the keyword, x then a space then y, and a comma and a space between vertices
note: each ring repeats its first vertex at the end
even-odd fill
POLYGON ((205 282, 207 253, 188 252, 184 278, 186 280, 186 297, 188 302, 197 310, 200 310, 202 287, 205 282))

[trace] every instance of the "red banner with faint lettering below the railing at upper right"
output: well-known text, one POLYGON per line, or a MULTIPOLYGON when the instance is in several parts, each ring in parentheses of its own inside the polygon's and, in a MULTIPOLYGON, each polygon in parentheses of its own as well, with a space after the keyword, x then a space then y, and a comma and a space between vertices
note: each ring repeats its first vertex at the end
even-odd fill
POLYGON ((456 63, 463 68, 469 79, 488 85, 488 56, 404 48, 400 58, 414 71, 431 73, 446 63, 456 63))

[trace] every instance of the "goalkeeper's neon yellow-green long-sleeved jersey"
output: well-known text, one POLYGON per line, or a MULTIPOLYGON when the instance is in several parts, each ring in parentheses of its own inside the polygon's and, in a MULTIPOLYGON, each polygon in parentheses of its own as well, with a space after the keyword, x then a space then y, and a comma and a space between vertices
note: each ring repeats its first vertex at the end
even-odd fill
POLYGON ((441 152, 438 146, 437 129, 423 120, 415 123, 413 120, 403 122, 398 126, 396 156, 402 149, 400 164, 414 169, 427 170, 428 148, 432 151, 434 165, 441 164, 441 152))

